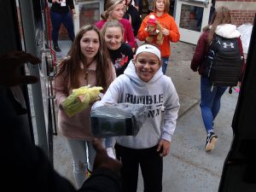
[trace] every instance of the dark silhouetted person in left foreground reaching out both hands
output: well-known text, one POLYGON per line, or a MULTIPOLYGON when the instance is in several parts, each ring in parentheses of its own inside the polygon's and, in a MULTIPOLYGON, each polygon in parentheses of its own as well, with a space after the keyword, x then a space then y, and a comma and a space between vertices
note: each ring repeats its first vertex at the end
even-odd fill
POLYGON ((13 51, 0 56, 0 120, 2 125, 8 125, 2 130, 4 137, 1 139, 1 151, 4 154, 4 158, 1 158, 1 164, 4 165, 1 169, 4 174, 2 187, 7 191, 26 192, 120 192, 119 171, 122 165, 118 160, 108 157, 98 139, 93 140, 96 159, 92 175, 79 190, 55 172, 44 151, 32 143, 26 133, 24 119, 16 113, 14 103, 6 93, 10 87, 38 82, 35 76, 18 73, 26 62, 36 65, 41 61, 24 51, 13 51))

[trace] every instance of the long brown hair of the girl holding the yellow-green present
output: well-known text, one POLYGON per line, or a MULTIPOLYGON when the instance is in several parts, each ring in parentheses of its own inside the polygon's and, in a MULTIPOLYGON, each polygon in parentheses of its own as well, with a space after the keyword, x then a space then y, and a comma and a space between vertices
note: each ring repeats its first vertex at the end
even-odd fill
POLYGON ((65 82, 70 82, 67 84, 67 90, 79 88, 79 76, 81 75, 81 62, 87 62, 86 58, 82 54, 80 47, 80 40, 85 32, 94 31, 98 34, 100 47, 98 53, 95 56, 96 60, 96 82, 97 86, 102 86, 103 91, 108 90, 109 84, 113 81, 112 79, 112 63, 108 55, 107 45, 102 38, 102 33, 98 30, 96 26, 88 25, 82 26, 77 33, 72 47, 67 55, 67 58, 61 61, 60 70, 57 75, 63 75, 65 82))

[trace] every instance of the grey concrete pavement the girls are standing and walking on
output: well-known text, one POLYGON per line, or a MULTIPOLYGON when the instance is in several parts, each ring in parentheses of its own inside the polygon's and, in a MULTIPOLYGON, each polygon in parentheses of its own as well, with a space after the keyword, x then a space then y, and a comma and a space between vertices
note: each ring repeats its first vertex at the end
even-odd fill
MULTIPOLYGON (((67 53, 68 42, 60 42, 62 54, 67 53)), ((167 76, 172 78, 180 98, 181 108, 177 129, 172 138, 171 153, 164 158, 163 192, 216 192, 222 174, 224 160, 230 149, 233 132, 231 122, 236 108, 238 93, 224 93, 222 106, 215 120, 214 129, 218 135, 215 149, 204 150, 207 133, 201 119, 200 75, 192 72, 190 61, 195 45, 178 42, 172 44, 172 57, 167 67, 167 76)), ((55 169, 72 183, 72 156, 65 138, 54 137, 55 169)), ((143 192, 140 175, 138 192, 143 192)))

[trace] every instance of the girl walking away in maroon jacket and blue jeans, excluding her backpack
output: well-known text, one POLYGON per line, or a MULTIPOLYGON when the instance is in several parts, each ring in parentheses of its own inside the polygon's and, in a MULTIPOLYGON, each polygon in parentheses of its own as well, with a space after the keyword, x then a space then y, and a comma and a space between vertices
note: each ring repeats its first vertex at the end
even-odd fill
POLYGON ((200 107, 201 116, 207 131, 206 151, 211 151, 217 142, 218 137, 213 130, 213 121, 218 115, 221 97, 227 89, 226 86, 213 86, 212 89, 212 83, 207 78, 206 68, 204 66, 204 59, 214 33, 224 38, 237 38, 240 54, 243 55, 240 32, 237 31, 236 26, 231 24, 230 10, 225 7, 219 7, 212 15, 212 21, 204 28, 201 37, 198 39, 195 54, 190 65, 194 72, 198 72, 201 75, 200 107))

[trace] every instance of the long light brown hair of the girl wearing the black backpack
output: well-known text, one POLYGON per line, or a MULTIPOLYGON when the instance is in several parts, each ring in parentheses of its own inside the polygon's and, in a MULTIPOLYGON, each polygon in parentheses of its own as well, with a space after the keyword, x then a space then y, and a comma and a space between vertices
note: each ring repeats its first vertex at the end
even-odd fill
POLYGON ((214 32, 216 31, 217 26, 223 25, 223 24, 230 24, 231 23, 231 15, 230 15, 230 9, 227 9, 226 7, 219 7, 215 10, 214 14, 212 15, 212 20, 205 29, 209 30, 208 35, 208 45, 211 44, 212 38, 214 35, 214 32))

